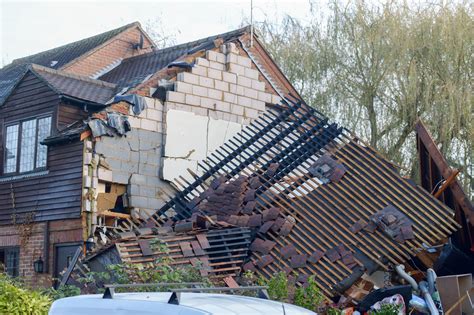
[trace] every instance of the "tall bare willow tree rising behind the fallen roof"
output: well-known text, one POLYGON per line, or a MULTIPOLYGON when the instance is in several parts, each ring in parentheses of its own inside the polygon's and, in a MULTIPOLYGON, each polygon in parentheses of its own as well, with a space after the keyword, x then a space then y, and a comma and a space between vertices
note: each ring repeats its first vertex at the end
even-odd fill
POLYGON ((305 100, 416 174, 422 118, 474 195, 474 14, 469 3, 333 1, 260 29, 305 100))

